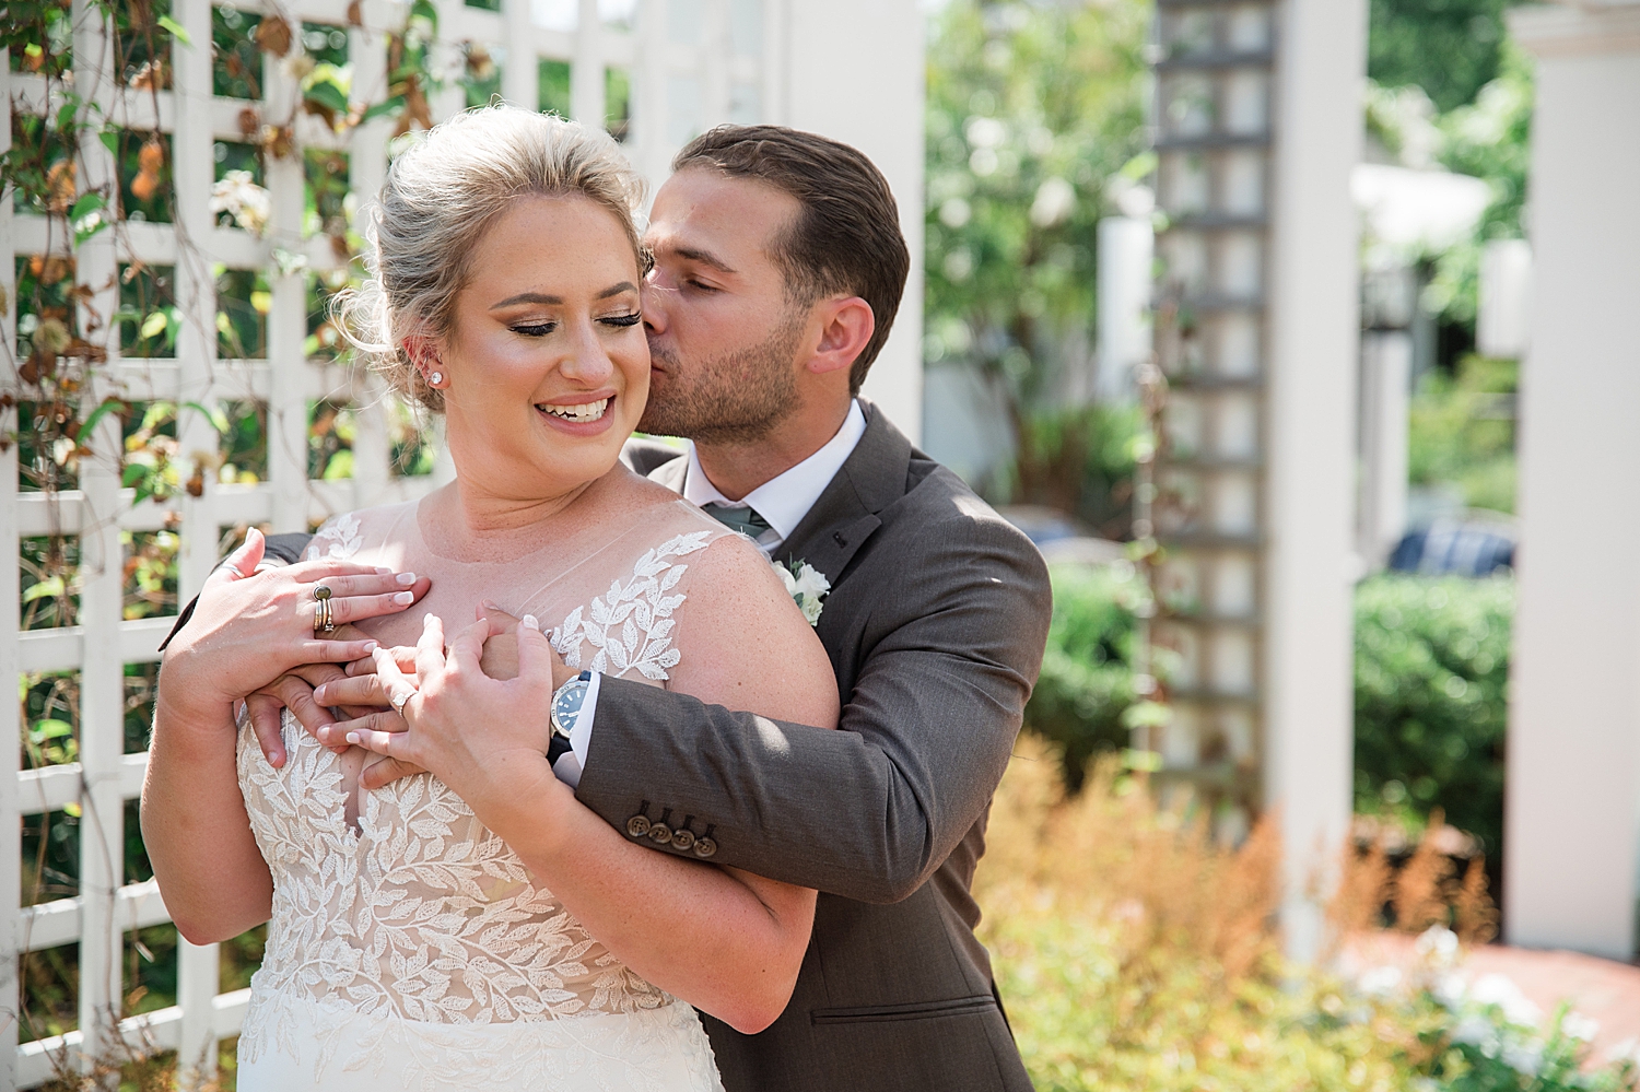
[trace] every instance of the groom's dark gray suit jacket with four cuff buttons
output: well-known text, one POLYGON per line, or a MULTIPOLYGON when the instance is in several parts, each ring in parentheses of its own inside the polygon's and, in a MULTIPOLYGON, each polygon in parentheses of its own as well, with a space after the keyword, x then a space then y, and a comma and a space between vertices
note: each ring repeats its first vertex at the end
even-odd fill
MULTIPOLYGON (((866 407, 781 546, 831 580, 817 626, 841 731, 605 679, 576 795, 712 859, 820 889, 790 1005, 761 1035, 705 1017, 728 1092, 1030 1089, 974 938, 991 795, 1036 680, 1051 597, 1032 543, 866 407)), ((628 464, 682 489, 676 449, 628 464)), ((635 825, 636 838, 661 853, 635 825)))

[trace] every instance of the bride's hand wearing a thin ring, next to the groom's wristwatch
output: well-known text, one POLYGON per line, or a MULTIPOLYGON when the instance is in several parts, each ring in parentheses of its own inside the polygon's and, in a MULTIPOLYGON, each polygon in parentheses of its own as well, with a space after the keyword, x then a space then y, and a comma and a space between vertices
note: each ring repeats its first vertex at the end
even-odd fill
MULTIPOLYGON (((431 771, 482 818, 541 794, 569 792, 548 764, 553 649, 531 617, 518 628, 517 679, 492 679, 479 659, 492 625, 481 620, 444 649, 444 625, 428 615, 417 643, 417 682, 376 653, 382 690, 400 710, 403 731, 346 728, 346 741, 387 759, 431 771)), ((330 689, 326 687, 326 694, 330 689)), ((490 828, 495 830, 492 820, 490 828)))

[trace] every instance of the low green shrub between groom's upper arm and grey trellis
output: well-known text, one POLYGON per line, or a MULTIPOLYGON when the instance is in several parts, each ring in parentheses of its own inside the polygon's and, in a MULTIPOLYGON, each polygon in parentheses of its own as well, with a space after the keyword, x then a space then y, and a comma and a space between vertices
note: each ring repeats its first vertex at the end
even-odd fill
POLYGON ((1128 746, 1133 618, 1150 589, 1128 562, 1056 566, 1051 577, 1053 623, 1025 725, 1059 746, 1064 784, 1076 790, 1094 754, 1128 746))

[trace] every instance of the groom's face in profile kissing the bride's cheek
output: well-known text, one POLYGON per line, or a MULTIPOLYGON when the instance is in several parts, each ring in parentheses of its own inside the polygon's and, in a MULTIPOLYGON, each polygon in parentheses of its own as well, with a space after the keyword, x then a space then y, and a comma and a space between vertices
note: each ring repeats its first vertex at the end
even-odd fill
POLYGON ((702 443, 756 443, 802 408, 809 305, 769 256, 797 198, 704 167, 654 195, 643 287, 649 405, 638 428, 702 443))

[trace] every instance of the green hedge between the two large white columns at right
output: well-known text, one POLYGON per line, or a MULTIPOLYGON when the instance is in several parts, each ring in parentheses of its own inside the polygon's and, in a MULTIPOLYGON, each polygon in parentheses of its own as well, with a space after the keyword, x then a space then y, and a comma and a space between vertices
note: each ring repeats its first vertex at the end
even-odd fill
POLYGON ((1355 810, 1422 828, 1432 808, 1497 859, 1510 577, 1386 574, 1355 594, 1355 810))

